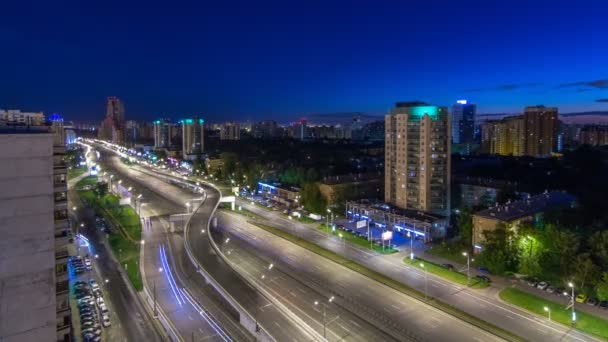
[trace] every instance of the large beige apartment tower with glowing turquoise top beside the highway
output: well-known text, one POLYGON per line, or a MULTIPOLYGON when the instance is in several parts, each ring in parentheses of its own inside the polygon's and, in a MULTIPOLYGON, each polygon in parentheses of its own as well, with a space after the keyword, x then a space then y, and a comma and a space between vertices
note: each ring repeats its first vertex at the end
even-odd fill
POLYGON ((385 201, 450 213, 450 121, 446 107, 397 102, 385 117, 385 201))

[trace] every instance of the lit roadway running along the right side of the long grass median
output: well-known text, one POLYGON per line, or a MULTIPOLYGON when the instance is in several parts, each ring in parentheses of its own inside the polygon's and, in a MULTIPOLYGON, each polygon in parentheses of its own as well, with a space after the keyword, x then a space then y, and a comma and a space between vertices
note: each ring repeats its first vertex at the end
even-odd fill
MULTIPOLYGON (((238 201, 238 205, 266 217, 266 224, 298 235, 420 291, 425 290, 424 271, 405 265, 402 262, 403 254, 383 256, 356 245, 344 244, 337 236, 331 236, 320 230, 311 229, 307 225, 288 220, 277 212, 264 210, 251 205, 248 201, 238 201)), ((497 298, 498 290, 496 288, 471 290, 432 274, 428 274, 428 279, 428 291, 431 296, 498 327, 515 332, 527 340, 601 341, 501 302, 497 298)))

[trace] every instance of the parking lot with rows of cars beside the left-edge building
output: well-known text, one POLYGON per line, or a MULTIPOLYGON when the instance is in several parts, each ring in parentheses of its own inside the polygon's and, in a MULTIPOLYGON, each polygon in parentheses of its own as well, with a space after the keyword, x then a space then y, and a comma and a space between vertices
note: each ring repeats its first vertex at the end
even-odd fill
POLYGON ((96 270, 95 253, 85 236, 76 239, 78 255, 70 258, 70 305, 74 335, 82 341, 118 341, 119 324, 106 302, 105 283, 96 270))

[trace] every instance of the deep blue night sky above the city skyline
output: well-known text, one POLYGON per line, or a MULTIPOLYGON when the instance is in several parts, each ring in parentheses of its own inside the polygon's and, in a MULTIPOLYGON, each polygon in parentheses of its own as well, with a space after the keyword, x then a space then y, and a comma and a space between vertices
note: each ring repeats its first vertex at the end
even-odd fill
POLYGON ((101 120, 608 110, 608 1, 3 1, 0 108, 101 120), (126 3, 129 4, 126 4, 126 3))

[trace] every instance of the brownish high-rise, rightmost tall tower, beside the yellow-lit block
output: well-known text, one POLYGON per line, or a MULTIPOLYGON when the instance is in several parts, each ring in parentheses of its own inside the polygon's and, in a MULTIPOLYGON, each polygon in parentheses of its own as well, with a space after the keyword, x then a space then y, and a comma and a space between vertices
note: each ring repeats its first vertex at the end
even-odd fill
POLYGON ((548 157, 557 149, 557 108, 530 106, 524 110, 525 154, 548 157))

